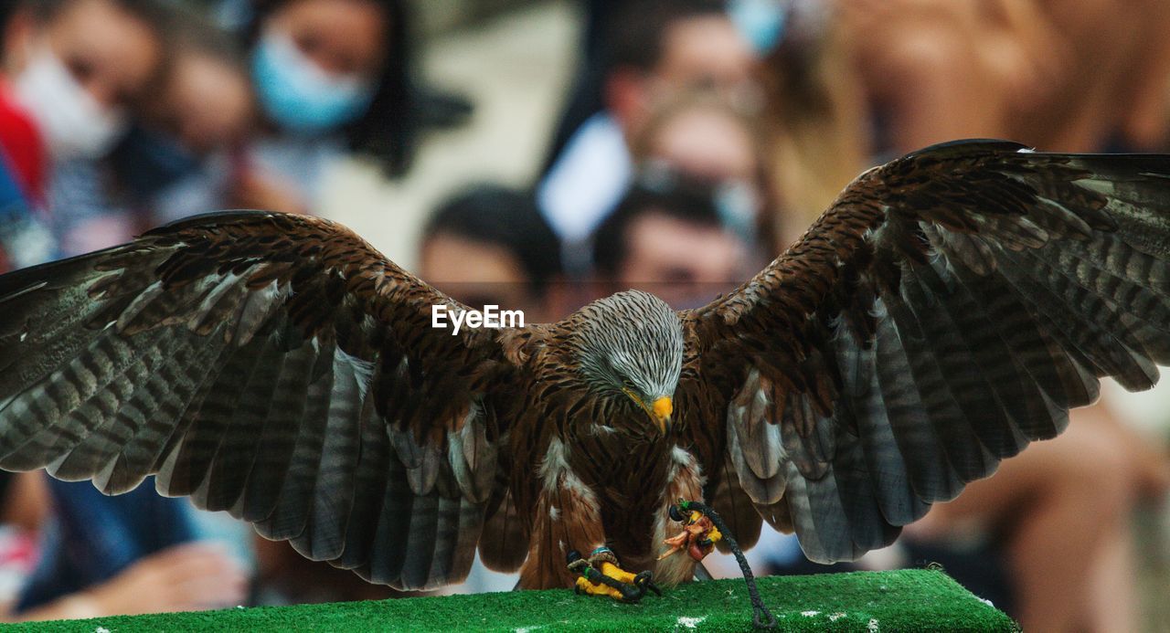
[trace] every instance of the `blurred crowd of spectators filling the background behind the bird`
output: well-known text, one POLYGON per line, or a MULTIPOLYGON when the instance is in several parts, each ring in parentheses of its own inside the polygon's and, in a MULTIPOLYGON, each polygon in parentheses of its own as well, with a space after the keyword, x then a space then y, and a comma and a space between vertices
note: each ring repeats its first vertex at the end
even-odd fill
MULTIPOLYGON (((1158 0, 0 0, 0 270, 247 207, 529 321, 701 305, 931 143, 1170 150, 1168 28, 1158 0)), ((1027 631, 1170 631, 1170 394, 1104 391, 834 567, 938 562, 1027 631)), ((5 619, 397 596, 149 486, 4 474, 0 521, 5 619)), ((826 571, 782 535, 751 558, 826 571)))

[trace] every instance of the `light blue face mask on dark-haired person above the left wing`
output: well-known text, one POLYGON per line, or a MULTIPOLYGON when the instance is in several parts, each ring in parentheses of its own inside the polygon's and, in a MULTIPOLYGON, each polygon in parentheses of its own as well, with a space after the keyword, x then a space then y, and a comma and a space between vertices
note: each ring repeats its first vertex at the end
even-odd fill
POLYGON ((373 97, 370 82, 326 73, 280 32, 261 36, 252 55, 252 78, 264 112, 292 132, 321 133, 350 123, 373 97))

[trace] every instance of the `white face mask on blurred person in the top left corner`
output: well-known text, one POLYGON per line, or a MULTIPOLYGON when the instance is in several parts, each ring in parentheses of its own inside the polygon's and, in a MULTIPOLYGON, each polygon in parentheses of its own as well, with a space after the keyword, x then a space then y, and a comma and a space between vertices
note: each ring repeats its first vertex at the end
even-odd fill
POLYGON ((99 158, 126 129, 124 112, 98 103, 47 43, 30 48, 28 66, 13 83, 53 160, 99 158))

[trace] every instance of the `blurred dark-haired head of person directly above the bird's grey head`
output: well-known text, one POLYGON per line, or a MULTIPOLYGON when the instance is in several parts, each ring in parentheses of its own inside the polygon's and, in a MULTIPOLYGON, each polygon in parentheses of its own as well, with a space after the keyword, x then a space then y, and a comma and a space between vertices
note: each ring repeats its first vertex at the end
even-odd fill
POLYGON ((749 252, 724 225, 715 188, 682 174, 644 176, 593 235, 599 296, 646 290, 675 309, 746 280, 749 252))

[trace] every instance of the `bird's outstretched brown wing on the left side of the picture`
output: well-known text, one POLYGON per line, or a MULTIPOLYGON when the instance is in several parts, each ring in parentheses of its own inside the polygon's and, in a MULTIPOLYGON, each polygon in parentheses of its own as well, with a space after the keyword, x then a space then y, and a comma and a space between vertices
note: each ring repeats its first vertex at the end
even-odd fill
POLYGON ((457 582, 498 493, 507 363, 433 304, 462 308, 344 227, 262 212, 6 275, 0 467, 108 494, 157 474, 372 582, 457 582))

